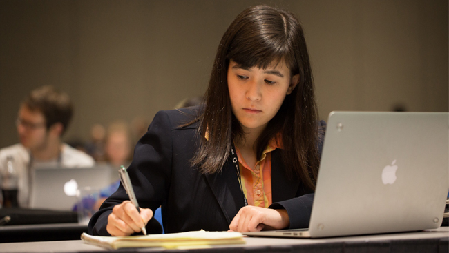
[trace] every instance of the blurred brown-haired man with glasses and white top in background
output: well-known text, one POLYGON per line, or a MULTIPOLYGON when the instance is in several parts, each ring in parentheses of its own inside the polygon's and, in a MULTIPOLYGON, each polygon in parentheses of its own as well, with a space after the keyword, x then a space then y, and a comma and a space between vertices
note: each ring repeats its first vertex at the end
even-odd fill
MULTIPOLYGON (((72 114, 68 95, 49 85, 32 90, 21 103, 16 122, 20 143, 0 150, 0 172, 15 170, 20 207, 28 207, 31 172, 35 168, 81 168, 95 164, 88 154, 61 141, 72 114)), ((6 179, 2 175, 1 185, 6 179)))

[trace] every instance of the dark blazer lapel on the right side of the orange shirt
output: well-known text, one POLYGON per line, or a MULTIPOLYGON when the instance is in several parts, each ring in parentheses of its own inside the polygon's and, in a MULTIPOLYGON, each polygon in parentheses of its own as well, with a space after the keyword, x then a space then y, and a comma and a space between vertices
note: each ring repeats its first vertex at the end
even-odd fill
POLYGON ((278 149, 271 152, 271 198, 273 203, 292 199, 298 192, 299 182, 287 178, 278 149))

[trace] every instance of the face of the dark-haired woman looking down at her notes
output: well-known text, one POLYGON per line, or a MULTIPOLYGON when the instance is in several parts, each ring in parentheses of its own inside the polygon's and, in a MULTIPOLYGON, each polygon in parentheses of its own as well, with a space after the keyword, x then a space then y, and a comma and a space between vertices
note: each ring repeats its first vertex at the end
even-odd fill
POLYGON ((299 74, 290 77, 284 61, 266 69, 244 69, 235 61, 229 62, 228 88, 232 112, 243 130, 263 130, 292 93, 299 74))

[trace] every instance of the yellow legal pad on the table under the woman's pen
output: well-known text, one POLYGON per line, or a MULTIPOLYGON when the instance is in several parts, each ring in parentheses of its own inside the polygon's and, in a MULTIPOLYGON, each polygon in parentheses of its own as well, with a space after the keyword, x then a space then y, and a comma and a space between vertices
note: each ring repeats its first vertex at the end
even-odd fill
POLYGON ((207 232, 204 230, 171 233, 149 234, 146 236, 91 236, 83 233, 84 243, 120 249, 122 247, 204 247, 220 244, 246 243, 239 232, 207 232))

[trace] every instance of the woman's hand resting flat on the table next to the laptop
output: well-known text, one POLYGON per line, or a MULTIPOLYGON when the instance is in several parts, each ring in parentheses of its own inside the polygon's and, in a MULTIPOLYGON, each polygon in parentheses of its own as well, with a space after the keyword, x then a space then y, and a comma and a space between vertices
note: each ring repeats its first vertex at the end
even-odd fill
POLYGON ((240 208, 229 228, 237 232, 258 232, 264 228, 281 230, 289 226, 289 216, 284 209, 259 208, 248 205, 240 208))

